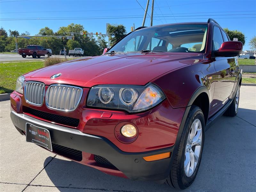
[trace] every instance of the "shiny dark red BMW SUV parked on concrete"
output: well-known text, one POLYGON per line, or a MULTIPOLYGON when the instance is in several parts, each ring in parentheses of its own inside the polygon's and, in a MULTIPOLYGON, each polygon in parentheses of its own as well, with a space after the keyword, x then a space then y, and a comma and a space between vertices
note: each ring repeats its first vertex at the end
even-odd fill
POLYGON ((12 123, 26 141, 73 161, 184 189, 205 131, 237 114, 242 48, 212 19, 140 27, 101 56, 20 76, 12 123))

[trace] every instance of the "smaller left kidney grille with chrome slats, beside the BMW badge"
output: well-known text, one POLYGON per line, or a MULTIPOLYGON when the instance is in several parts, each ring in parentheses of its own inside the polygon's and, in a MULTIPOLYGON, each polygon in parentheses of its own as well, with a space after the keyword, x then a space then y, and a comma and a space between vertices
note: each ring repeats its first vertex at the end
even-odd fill
POLYGON ((32 105, 43 105, 45 86, 43 83, 28 81, 24 87, 25 100, 32 105))

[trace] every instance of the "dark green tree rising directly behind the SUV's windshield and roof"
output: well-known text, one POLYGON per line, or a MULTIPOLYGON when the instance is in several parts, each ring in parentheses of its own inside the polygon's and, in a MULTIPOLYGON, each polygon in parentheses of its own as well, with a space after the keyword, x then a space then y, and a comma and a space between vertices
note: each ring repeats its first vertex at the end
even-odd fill
POLYGON ((125 27, 123 25, 108 25, 108 34, 110 40, 110 46, 113 46, 119 39, 126 34, 125 27))

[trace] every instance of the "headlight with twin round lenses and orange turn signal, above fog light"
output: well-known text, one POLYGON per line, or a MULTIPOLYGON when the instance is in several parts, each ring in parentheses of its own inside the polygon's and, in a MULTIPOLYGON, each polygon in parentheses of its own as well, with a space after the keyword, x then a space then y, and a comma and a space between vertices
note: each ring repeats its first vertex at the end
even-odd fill
POLYGON ((98 85, 91 88, 87 106, 123 109, 134 113, 153 108, 164 99, 164 93, 154 84, 98 85))

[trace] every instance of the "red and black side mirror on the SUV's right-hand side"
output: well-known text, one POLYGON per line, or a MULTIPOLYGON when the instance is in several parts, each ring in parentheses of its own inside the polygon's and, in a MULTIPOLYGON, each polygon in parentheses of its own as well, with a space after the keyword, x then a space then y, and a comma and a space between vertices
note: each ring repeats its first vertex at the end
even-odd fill
POLYGON ((216 57, 235 57, 243 50, 243 43, 240 41, 226 41, 221 44, 220 49, 214 52, 216 57))

